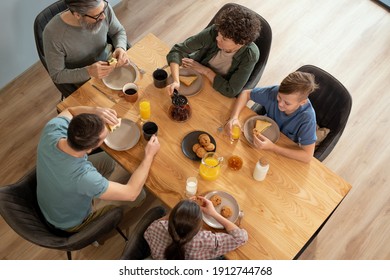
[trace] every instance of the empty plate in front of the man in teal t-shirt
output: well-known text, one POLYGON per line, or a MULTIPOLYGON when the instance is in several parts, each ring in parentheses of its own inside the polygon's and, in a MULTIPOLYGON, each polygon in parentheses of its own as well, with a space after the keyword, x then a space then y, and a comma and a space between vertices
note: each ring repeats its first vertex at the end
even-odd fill
POLYGON ((141 136, 137 124, 129 119, 122 119, 121 126, 109 133, 104 143, 116 151, 133 148, 141 136))

